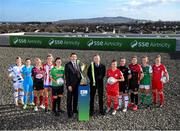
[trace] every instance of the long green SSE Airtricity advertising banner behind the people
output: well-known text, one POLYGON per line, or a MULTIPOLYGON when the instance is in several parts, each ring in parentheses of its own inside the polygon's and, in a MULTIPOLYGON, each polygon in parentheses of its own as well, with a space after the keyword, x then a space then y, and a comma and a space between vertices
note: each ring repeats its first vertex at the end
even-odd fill
POLYGON ((176 39, 10 36, 10 46, 103 51, 175 52, 176 39))

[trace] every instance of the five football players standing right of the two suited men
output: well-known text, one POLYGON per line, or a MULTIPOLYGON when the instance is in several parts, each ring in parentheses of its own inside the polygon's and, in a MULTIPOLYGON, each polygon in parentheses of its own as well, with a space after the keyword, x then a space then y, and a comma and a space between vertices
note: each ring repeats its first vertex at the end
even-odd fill
POLYGON ((147 56, 142 57, 142 64, 137 63, 137 56, 132 56, 131 64, 128 66, 125 58, 120 59, 120 66, 117 66, 116 60, 112 61, 111 69, 107 71, 106 112, 110 110, 111 98, 114 100, 112 114, 116 114, 118 109, 122 109, 123 112, 127 109, 135 111, 141 107, 150 109, 151 104, 158 104, 158 96, 160 100, 158 106, 163 107, 163 84, 169 82, 169 75, 165 65, 161 63, 160 55, 156 56, 152 66, 148 62, 147 56))

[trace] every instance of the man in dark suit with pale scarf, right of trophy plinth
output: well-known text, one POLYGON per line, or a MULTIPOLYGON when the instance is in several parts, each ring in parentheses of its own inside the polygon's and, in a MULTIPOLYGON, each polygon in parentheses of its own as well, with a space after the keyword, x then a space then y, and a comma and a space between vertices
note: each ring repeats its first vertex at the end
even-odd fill
POLYGON ((93 58, 93 62, 88 68, 88 77, 90 80, 90 116, 94 114, 94 97, 96 90, 98 90, 99 97, 99 111, 101 115, 104 115, 103 109, 103 90, 104 90, 104 76, 106 74, 106 68, 100 63, 100 56, 96 54, 93 58))

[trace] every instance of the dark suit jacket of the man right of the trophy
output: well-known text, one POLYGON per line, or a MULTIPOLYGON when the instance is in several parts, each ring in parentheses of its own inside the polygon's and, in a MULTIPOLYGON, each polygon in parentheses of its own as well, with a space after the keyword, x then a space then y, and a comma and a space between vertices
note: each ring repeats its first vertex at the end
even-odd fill
MULTIPOLYGON (((88 77, 90 80, 90 86, 93 86, 93 77, 92 77, 92 67, 91 65, 88 68, 88 77)), ((99 64, 98 67, 96 67, 94 63, 94 76, 96 81, 96 86, 103 86, 103 79, 106 75, 106 67, 103 64, 99 64)))

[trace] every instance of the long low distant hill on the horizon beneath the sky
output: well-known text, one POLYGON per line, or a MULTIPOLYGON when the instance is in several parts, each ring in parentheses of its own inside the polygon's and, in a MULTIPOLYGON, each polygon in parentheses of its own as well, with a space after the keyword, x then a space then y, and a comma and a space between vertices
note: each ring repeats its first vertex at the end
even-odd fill
POLYGON ((141 22, 146 20, 137 20, 127 17, 97 17, 97 18, 89 18, 89 19, 69 19, 69 20, 59 20, 55 21, 56 24, 116 24, 116 23, 134 23, 141 22))

